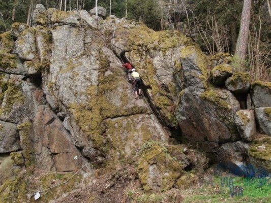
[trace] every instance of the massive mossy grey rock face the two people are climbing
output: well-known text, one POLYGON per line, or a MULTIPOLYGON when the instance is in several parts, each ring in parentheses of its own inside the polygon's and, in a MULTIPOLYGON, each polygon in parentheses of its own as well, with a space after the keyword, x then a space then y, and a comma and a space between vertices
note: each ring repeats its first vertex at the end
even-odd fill
MULTIPOLYGON (((247 164, 256 122, 270 136, 269 83, 252 84, 254 121, 236 99, 239 93, 247 96, 250 83, 237 80, 232 89, 231 70, 222 68, 209 78, 208 65, 227 69, 229 54, 209 60, 182 33, 91 15, 37 5, 34 26, 14 24, 12 32, 0 35, 0 156, 7 156, 1 157, 0 172, 10 168, 14 180, 24 169, 112 171, 129 163, 137 165, 145 191, 186 188, 197 176, 184 168, 202 172, 208 158, 247 164), (140 74, 142 99, 134 98, 122 62, 140 74), (183 136, 202 152, 173 144, 183 136)), ((11 190, 1 189, 0 195, 11 190)), ((10 202, 29 202, 24 196, 10 202)), ((51 199, 56 197, 47 202, 51 199)))

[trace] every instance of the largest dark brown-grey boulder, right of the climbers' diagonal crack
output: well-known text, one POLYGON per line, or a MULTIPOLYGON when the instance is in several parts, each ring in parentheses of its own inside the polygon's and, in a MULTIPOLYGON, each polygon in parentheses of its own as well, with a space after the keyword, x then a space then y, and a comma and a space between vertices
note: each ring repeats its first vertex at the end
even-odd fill
POLYGON ((187 139, 209 143, 212 148, 240 139, 234 122, 239 110, 238 101, 228 90, 188 87, 180 92, 175 116, 187 139))

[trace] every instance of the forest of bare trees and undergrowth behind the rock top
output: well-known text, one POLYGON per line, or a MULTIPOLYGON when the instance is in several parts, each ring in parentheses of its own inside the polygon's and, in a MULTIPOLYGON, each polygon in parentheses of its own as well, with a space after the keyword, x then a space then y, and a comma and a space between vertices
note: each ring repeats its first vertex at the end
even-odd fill
POLYGON ((102 6, 108 15, 142 21, 156 31, 183 32, 209 56, 230 53, 235 71, 271 82, 271 0, 0 0, 0 31, 14 22, 31 26, 37 4, 62 11, 102 6))

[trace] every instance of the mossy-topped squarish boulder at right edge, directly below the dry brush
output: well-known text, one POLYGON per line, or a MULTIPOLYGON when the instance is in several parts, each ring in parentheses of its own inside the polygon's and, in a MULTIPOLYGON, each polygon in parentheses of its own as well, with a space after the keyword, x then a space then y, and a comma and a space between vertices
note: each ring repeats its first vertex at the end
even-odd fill
POLYGON ((253 82, 251 84, 251 94, 255 108, 271 107, 271 82, 253 82))

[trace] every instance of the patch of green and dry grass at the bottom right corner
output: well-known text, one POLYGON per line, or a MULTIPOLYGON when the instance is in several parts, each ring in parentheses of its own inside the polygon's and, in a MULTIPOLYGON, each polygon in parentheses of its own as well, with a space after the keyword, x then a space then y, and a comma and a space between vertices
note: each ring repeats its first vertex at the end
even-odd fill
POLYGON ((271 202, 271 180, 262 179, 261 184, 260 179, 248 181, 237 177, 231 180, 234 187, 243 187, 243 196, 231 197, 229 187, 222 187, 220 177, 214 177, 213 185, 205 181, 202 186, 182 191, 183 202, 271 202))

